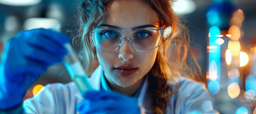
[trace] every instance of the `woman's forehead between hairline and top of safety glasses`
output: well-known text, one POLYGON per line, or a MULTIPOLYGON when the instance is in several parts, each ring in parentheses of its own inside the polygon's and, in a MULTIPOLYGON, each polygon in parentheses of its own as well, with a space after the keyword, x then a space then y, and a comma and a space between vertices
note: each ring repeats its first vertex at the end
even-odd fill
POLYGON ((111 0, 106 4, 103 24, 124 29, 145 24, 159 27, 157 13, 143 0, 111 0))

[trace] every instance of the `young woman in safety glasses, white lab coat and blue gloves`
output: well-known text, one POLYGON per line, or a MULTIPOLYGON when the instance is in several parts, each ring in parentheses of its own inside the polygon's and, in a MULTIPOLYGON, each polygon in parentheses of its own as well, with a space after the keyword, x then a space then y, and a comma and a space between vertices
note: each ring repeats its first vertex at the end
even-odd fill
POLYGON ((95 90, 83 94, 74 82, 53 83, 22 103, 40 74, 63 61, 69 38, 46 29, 18 33, 7 42, 1 60, 0 109, 32 114, 215 113, 204 84, 196 82, 204 77, 186 65, 189 39, 172 3, 83 1, 81 28, 74 38, 77 53, 86 72, 95 59, 99 62, 90 76, 95 90), (171 42, 176 50, 168 61, 171 42))

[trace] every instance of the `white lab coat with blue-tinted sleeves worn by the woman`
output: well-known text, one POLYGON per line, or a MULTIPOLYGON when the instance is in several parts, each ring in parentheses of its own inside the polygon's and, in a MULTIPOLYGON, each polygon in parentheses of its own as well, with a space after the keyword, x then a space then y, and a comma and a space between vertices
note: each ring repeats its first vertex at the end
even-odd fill
MULTIPOLYGON (((101 73, 102 68, 99 66, 90 77, 92 86, 97 90, 101 88, 101 73)), ((195 83, 185 78, 180 78, 178 83, 180 83, 180 89, 172 96, 171 105, 168 105, 166 109, 170 114, 200 114, 199 112, 202 112, 201 114, 215 114, 211 109, 211 104, 204 102, 211 101, 207 90, 204 89, 204 84, 195 83), (211 111, 208 112, 209 110, 211 111)), ((138 101, 145 107, 145 112, 150 113, 148 111, 150 107, 144 102, 147 87, 148 81, 146 79, 142 85, 138 101)), ((175 89, 175 86, 173 88, 175 89)), ((23 108, 27 114, 78 114, 76 104, 81 101, 81 94, 74 82, 52 83, 46 85, 45 89, 37 96, 26 99, 23 108)))

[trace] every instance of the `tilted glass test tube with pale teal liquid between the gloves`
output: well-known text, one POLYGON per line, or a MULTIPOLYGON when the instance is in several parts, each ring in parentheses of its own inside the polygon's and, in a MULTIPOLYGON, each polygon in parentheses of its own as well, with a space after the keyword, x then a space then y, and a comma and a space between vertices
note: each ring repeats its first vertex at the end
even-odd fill
MULTIPOLYGON (((50 29, 60 32, 61 25, 58 24, 56 26, 51 27, 50 29)), ((76 86, 81 93, 88 90, 93 90, 92 85, 90 84, 90 81, 88 79, 88 76, 83 70, 83 67, 79 59, 76 57, 76 54, 74 53, 72 46, 68 43, 65 44, 64 47, 67 49, 68 52, 64 58, 64 66, 67 69, 67 72, 69 73, 72 81, 76 83, 76 86)))

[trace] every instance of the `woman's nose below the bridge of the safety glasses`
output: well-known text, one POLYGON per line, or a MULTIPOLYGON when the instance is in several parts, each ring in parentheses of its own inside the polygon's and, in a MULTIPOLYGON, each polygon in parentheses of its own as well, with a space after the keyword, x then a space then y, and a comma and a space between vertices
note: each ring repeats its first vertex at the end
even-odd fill
POLYGON ((118 50, 118 58, 123 59, 124 61, 132 59, 135 51, 128 39, 124 40, 118 50))

